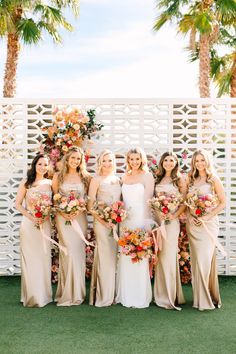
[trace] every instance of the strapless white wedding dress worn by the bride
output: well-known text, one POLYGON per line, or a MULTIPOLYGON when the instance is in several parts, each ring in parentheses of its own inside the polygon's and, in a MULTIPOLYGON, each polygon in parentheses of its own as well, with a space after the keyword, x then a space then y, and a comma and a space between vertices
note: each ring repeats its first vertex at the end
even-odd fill
MULTIPOLYGON (((123 184, 122 195, 128 218, 122 227, 143 228, 145 225, 145 189, 142 183, 123 184)), ((149 261, 132 263, 131 258, 120 254, 117 270, 116 302, 125 307, 145 308, 152 300, 149 261)))

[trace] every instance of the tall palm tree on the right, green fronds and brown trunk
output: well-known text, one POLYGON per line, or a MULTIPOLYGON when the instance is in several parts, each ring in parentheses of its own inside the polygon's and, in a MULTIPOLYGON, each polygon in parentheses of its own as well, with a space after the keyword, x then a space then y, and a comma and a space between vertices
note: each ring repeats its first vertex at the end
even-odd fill
POLYGON ((157 8, 161 13, 155 31, 170 21, 179 32, 190 34, 189 49, 199 59, 200 97, 210 97, 210 51, 220 24, 235 18, 235 0, 161 0, 157 8))

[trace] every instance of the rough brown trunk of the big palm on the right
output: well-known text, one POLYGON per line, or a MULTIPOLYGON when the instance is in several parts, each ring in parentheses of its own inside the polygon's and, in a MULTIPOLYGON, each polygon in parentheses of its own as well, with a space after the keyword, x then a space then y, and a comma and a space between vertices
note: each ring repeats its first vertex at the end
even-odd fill
POLYGON ((201 34, 199 41, 199 91, 200 97, 210 97, 210 43, 209 35, 201 34))

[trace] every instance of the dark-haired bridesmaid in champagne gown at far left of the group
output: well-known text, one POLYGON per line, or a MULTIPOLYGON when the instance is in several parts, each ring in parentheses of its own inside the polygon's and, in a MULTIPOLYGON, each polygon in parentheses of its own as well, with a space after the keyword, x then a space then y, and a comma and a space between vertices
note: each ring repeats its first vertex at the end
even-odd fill
POLYGON ((52 301, 51 288, 51 247, 37 229, 43 223, 50 235, 49 220, 32 215, 32 197, 52 196, 51 181, 46 178, 49 160, 45 155, 37 155, 22 180, 16 196, 16 209, 23 215, 20 227, 21 246, 21 302, 26 307, 43 307, 52 301), (22 205, 25 200, 25 207, 22 205))

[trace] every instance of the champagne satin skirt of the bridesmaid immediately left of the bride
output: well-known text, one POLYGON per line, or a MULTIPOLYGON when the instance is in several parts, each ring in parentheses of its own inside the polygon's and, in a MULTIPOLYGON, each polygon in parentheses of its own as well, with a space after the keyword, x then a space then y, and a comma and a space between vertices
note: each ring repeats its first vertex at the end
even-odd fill
POLYGON ((96 249, 90 286, 90 305, 110 306, 115 298, 115 274, 117 263, 117 242, 111 231, 94 221, 96 249))

